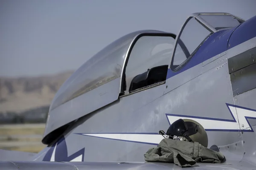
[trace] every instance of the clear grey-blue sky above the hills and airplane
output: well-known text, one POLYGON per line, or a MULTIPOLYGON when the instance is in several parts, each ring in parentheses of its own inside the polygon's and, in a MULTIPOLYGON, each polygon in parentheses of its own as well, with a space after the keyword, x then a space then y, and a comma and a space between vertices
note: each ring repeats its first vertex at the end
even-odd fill
POLYGON ((177 34, 194 12, 247 20, 255 6, 256 0, 0 0, 0 77, 76 70, 132 31, 177 34))

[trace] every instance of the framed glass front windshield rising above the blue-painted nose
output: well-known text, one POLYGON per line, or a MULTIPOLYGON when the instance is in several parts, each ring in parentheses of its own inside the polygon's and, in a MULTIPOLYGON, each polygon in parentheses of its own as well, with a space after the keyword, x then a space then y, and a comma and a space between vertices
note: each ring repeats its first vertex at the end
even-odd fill
POLYGON ((228 13, 194 13, 184 23, 177 38, 171 68, 177 70, 191 58, 201 44, 215 32, 229 29, 244 22, 228 13), (183 47, 182 43, 184 43, 183 47))

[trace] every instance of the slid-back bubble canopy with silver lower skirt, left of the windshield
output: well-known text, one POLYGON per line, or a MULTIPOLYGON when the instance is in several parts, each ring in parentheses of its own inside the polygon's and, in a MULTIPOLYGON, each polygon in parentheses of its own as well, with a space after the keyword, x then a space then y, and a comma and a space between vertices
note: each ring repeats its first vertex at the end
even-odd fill
POLYGON ((99 51, 58 90, 49 109, 44 135, 114 102, 119 96, 165 80, 175 37, 163 31, 136 31, 99 51), (159 65, 163 68, 158 68, 159 65), (155 73, 160 69, 163 73, 158 79, 155 73), (150 74, 142 83, 138 75, 145 72, 150 74), (136 76, 139 82, 134 79, 136 76))

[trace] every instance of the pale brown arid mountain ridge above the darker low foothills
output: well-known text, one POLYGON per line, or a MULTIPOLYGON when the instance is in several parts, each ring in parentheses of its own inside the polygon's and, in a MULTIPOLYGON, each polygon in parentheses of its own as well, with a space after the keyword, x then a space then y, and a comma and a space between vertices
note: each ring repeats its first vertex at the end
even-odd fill
POLYGON ((24 113, 49 106, 74 71, 38 77, 0 77, 0 113, 24 113))

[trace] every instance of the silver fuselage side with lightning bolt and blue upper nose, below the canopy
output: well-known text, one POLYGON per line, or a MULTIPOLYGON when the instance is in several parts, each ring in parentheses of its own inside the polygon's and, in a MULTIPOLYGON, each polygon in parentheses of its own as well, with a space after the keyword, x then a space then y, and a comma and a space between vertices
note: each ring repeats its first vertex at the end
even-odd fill
POLYGON ((204 125, 208 147, 217 145, 227 163, 242 159, 255 163, 256 119, 247 119, 251 130, 241 122, 245 113, 256 111, 256 89, 234 96, 228 61, 254 48, 256 37, 229 48, 229 43, 236 43, 233 36, 240 34, 234 30, 217 32, 212 40, 209 37, 201 53, 180 72, 168 70, 165 84, 124 96, 82 117, 60 142, 45 148, 34 160, 144 161, 143 154, 161 140, 157 132, 167 130, 178 118, 187 118, 204 125), (217 39, 225 42, 215 44, 211 56, 210 49, 205 49, 217 39))

